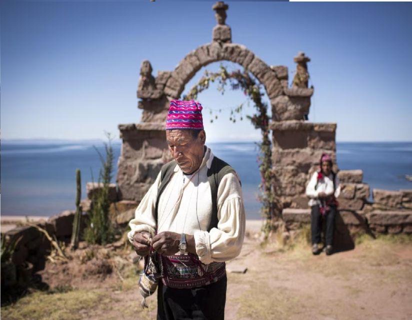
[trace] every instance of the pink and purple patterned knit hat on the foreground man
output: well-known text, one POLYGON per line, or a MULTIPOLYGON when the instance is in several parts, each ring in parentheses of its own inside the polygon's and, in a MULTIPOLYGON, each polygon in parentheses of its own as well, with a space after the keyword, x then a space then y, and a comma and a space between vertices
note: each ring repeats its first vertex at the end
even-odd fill
POLYGON ((199 102, 190 100, 171 100, 166 119, 166 130, 173 129, 203 129, 201 116, 202 106, 199 102))

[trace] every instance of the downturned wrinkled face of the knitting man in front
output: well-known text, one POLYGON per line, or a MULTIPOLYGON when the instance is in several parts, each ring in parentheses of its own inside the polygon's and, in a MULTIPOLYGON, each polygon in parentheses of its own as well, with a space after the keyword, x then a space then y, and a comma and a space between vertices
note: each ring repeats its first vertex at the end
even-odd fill
POLYGON ((203 158, 206 140, 204 130, 193 138, 189 130, 166 130, 166 141, 173 159, 180 169, 188 174, 198 169, 203 158))

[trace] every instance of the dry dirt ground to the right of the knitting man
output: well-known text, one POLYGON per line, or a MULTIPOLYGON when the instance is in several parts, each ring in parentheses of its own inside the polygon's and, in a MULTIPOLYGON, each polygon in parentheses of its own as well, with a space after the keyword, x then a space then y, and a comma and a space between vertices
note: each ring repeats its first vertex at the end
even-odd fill
POLYGON ((313 256, 256 249, 247 240, 228 264, 227 319, 410 319, 412 245, 367 241, 354 250, 313 256))

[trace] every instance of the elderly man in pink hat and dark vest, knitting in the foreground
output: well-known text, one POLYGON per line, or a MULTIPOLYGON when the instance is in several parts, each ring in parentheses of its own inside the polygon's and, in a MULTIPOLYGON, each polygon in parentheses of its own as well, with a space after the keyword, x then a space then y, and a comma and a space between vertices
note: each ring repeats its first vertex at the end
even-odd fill
POLYGON ((170 102, 165 129, 174 160, 129 222, 129 240, 145 256, 140 292, 151 294, 158 282, 157 319, 223 319, 224 261, 243 243, 240 180, 205 146, 201 109, 193 100, 170 102))

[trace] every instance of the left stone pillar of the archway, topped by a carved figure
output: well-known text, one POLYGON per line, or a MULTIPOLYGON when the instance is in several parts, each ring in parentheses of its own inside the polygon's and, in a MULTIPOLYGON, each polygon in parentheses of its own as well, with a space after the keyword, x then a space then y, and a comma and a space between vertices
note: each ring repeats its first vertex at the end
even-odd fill
POLYGON ((171 98, 164 87, 171 72, 159 71, 154 77, 152 71, 150 62, 144 60, 137 86, 137 106, 143 109, 141 122, 118 125, 122 139, 116 177, 120 200, 139 202, 170 159, 164 122, 171 98))

